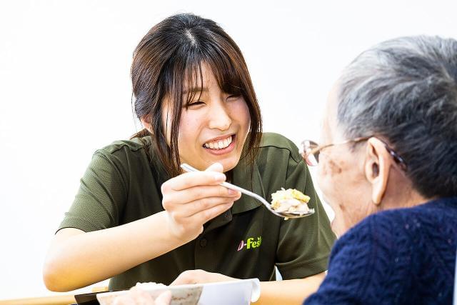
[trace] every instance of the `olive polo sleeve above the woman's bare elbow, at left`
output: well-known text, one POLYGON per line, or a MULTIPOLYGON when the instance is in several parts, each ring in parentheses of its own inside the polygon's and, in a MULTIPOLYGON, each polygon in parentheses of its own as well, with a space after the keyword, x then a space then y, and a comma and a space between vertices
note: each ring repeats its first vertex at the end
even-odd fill
POLYGON ((114 154, 96 151, 59 230, 76 228, 89 232, 118 225, 127 197, 124 176, 121 161, 114 154))

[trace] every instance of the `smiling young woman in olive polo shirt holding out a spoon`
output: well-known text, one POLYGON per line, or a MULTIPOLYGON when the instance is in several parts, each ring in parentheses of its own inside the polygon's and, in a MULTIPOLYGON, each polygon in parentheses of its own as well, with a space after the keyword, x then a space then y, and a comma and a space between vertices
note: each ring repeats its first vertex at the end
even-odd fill
POLYGON ((317 289, 335 236, 296 146, 262 134, 235 42, 214 21, 171 16, 136 47, 131 78, 145 129, 94 154, 49 249, 46 286, 271 281, 277 266, 284 281, 262 283, 263 303, 317 289), (183 174, 183 162, 201 171, 183 174), (316 213, 284 221, 219 185, 228 178, 267 199, 298 189, 316 213))

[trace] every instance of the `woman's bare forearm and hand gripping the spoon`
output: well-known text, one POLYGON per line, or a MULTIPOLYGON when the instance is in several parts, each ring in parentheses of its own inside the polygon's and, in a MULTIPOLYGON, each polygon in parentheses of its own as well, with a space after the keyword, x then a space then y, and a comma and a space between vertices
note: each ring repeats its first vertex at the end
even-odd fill
POLYGON ((199 236, 203 224, 230 209, 239 192, 219 186, 221 164, 176 176, 162 185, 166 211, 129 224, 85 233, 61 229, 44 264, 44 283, 69 291, 108 279, 199 236))

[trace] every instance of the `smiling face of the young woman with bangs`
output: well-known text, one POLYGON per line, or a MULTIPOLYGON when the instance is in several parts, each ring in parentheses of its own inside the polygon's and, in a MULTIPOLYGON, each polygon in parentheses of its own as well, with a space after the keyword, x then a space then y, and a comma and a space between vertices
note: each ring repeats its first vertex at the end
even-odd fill
MULTIPOLYGON (((178 149, 181 162, 204 170, 214 162, 229 171, 238 164, 248 135, 251 118, 243 96, 227 94, 219 88, 211 68, 202 64, 203 90, 196 92, 188 108, 182 109, 178 149)), ((184 101, 187 99, 184 88, 184 101)), ((164 126, 171 126, 171 109, 165 101, 164 126), (167 115, 168 114, 168 115, 167 115)), ((165 127, 166 128, 166 127, 165 127)), ((170 143, 170 128, 166 131, 170 143)))

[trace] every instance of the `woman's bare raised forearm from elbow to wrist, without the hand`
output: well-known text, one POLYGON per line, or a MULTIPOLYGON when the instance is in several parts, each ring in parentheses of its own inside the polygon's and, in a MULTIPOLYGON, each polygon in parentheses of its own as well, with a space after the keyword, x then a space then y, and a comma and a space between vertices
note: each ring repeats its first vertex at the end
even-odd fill
POLYGON ((166 212, 110 229, 85 233, 61 229, 44 264, 51 291, 69 291, 103 281, 175 249, 184 241, 167 230, 166 212))

